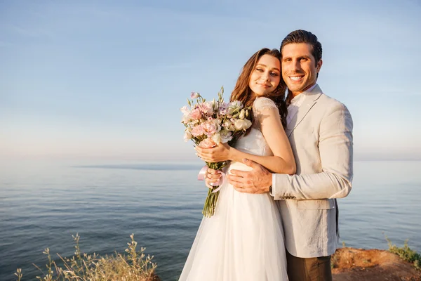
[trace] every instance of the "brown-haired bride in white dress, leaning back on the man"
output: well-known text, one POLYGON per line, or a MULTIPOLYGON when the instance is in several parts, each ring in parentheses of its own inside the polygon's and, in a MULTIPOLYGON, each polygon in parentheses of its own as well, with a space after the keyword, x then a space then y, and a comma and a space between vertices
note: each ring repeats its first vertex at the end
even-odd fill
MULTIPOLYGON (((294 156, 283 129, 285 91, 279 51, 262 48, 253 54, 230 98, 253 107, 253 125, 234 147, 196 147, 199 157, 206 162, 230 160, 227 174, 232 169, 250 170, 242 163, 244 158, 274 173, 294 174, 294 156)), ((206 185, 215 182, 211 177, 206 185)), ((288 280, 281 216, 273 198, 268 193, 237 192, 224 181, 215 215, 203 217, 180 280, 288 280)))

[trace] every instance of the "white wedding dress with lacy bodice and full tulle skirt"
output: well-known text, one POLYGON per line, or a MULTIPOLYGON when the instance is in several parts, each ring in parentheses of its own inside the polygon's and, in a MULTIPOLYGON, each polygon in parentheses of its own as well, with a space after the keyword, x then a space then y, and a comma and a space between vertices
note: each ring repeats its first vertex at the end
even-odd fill
MULTIPOLYGON (((255 116, 275 104, 258 98, 255 116)), ((265 138, 253 124, 235 148, 253 155, 273 155, 265 138)), ((250 170, 240 162, 231 169, 250 170)), ((234 190, 225 180, 215 215, 203 217, 180 281, 286 281, 285 246, 279 209, 269 193, 248 194, 234 190)))

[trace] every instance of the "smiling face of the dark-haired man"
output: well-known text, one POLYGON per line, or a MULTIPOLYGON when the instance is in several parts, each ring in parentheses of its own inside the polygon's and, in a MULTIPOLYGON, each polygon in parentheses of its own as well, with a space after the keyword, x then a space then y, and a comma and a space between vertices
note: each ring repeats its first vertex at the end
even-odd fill
POLYGON ((307 43, 291 43, 282 49, 282 78, 288 89, 297 96, 316 84, 322 61, 316 63, 312 46, 307 43))

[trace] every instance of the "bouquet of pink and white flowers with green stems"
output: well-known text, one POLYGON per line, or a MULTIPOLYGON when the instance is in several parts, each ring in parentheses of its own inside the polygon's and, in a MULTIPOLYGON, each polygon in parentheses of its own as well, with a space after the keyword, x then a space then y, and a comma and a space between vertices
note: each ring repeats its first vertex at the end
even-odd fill
MULTIPOLYGON (((214 148, 220 143, 228 143, 232 146, 250 128, 251 122, 247 119, 250 107, 243 107, 239 100, 224 103, 223 94, 222 87, 218 93, 218 100, 206 101, 196 92, 190 95, 191 100, 187 98, 189 106, 185 105, 181 108, 183 115, 181 122, 186 127, 184 135, 186 142, 192 140, 199 148, 214 148)), ((206 162, 202 171, 206 171, 207 167, 221 171, 227 164, 227 161, 206 162)), ((223 176, 221 180, 223 181, 223 176)), ((203 216, 210 217, 215 214, 220 184, 222 184, 221 181, 214 185, 214 190, 209 189, 202 211, 203 216)))

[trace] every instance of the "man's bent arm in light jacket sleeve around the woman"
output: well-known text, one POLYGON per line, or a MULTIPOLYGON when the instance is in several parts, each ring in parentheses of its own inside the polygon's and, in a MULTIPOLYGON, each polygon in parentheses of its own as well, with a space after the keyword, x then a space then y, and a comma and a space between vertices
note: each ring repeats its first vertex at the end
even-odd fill
POLYGON ((341 198, 352 188, 352 117, 345 105, 323 117, 319 133, 322 172, 289 176, 274 174, 275 200, 341 198))

